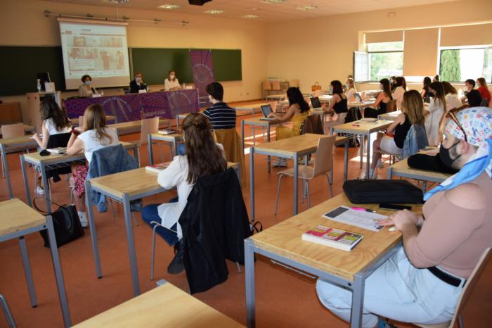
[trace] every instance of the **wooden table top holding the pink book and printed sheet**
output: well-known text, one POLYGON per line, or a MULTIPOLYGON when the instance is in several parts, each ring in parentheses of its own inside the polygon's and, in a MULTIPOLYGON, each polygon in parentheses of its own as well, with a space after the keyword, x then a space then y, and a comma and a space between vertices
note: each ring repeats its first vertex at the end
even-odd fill
MULTIPOLYGON (((379 232, 372 232, 353 225, 328 220, 321 216, 341 205, 354 206, 345 194, 339 194, 318 206, 314 206, 273 227, 264 229, 259 234, 254 234, 250 239, 255 246, 261 249, 354 281, 354 275, 357 272, 373 264, 377 258, 380 258, 382 254, 401 241, 401 233, 399 231, 390 232, 387 227, 379 232), (303 241, 302 234, 316 227, 316 225, 360 233, 364 235, 364 239, 350 252, 303 241)), ((391 210, 381 210, 377 206, 379 204, 363 205, 364 208, 377 210, 377 213, 382 215, 394 213, 391 210)), ((422 213, 422 206, 413 205, 412 210, 420 214, 422 213)))

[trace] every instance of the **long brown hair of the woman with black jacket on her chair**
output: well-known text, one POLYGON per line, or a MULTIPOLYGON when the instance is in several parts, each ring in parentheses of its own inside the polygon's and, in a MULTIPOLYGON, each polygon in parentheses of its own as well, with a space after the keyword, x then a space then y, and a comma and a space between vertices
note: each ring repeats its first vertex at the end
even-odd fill
POLYGON ((227 161, 221 149, 215 144, 212 125, 202 113, 191 113, 183 121, 186 158, 188 159, 189 184, 199 177, 223 172, 227 161))

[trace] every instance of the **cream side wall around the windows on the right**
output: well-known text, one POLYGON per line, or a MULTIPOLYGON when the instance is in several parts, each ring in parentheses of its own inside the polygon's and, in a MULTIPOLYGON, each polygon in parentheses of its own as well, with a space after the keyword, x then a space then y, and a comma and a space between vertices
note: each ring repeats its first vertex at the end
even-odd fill
MULTIPOLYGON (((267 75, 298 78, 302 90, 314 82, 328 89, 331 80, 345 81, 352 74, 352 53, 362 44, 363 31, 429 27, 492 20, 491 0, 451 1, 426 6, 392 8, 290 20, 268 24, 267 75), (388 13, 395 13, 389 17, 388 13)), ((492 33, 492 31, 490 31, 492 33)), ((436 61, 437 58, 422 58, 436 61)), ((474 77, 476 78, 476 77, 474 77)), ((411 88, 419 88, 420 84, 411 88)), ((376 84, 358 84, 358 89, 375 89, 376 84)))

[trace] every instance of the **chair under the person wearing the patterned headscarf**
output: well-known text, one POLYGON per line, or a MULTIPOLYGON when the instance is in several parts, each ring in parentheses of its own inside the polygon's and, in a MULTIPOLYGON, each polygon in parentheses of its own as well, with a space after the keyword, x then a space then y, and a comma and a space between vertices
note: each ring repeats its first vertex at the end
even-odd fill
POLYGON ((458 303, 456 304, 455 314, 453 315, 453 319, 450 322, 444 322, 442 324, 415 324, 415 326, 422 328, 453 328, 456 319, 458 319, 458 327, 464 328, 460 313, 463 310, 466 301, 468 300, 468 298, 470 298, 472 290, 477 284, 481 273, 484 272, 488 260, 490 260, 491 258, 491 255, 491 248, 486 248, 486 250, 480 257, 479 262, 477 263, 477 265, 475 265, 472 274, 470 275, 470 277, 468 277, 465 286, 463 286, 463 291, 461 292, 460 298, 458 298, 458 303))

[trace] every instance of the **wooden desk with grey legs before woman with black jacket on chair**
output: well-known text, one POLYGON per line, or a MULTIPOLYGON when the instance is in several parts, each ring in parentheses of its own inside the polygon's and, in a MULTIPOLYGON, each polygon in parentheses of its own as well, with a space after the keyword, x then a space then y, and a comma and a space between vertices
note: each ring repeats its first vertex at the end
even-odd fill
MULTIPOLYGON (((228 163, 228 168, 234 168, 238 172, 238 163, 228 163)), ((239 172, 238 172, 239 175, 239 172)), ((86 186, 86 210, 89 216, 89 227, 91 229, 91 242, 96 264, 96 275, 103 277, 101 270, 101 260, 96 234, 96 224, 94 222, 93 206, 91 203, 91 191, 98 191, 119 203, 123 203, 124 222, 127 229, 127 242, 129 249, 131 279, 133 283, 134 295, 140 294, 140 283, 138 281, 138 266, 136 263, 134 231, 131 225, 130 202, 139 198, 160 194, 167 191, 157 183, 157 173, 138 168, 119 172, 114 175, 96 177, 85 182, 86 186)))

